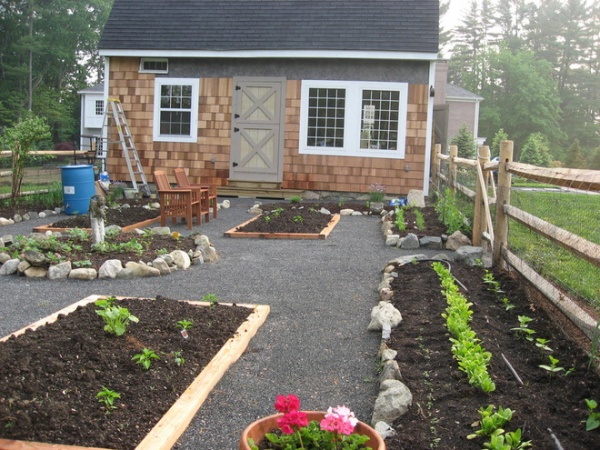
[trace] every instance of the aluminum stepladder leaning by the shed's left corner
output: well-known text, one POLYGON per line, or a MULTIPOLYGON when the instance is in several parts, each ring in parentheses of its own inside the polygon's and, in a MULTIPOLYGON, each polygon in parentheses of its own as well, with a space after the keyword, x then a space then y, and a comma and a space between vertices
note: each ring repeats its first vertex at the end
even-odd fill
POLYGON ((140 157, 138 156, 135 144, 133 143, 133 137, 131 136, 131 131, 129 129, 129 125, 127 124, 125 111, 123 111, 123 105, 117 98, 109 97, 106 102, 106 109, 104 113, 104 130, 108 143, 111 143, 111 141, 108 140, 110 136, 108 121, 110 119, 112 119, 114 125, 117 127, 117 131, 119 132, 119 140, 112 142, 118 142, 121 144, 133 189, 141 192, 145 196, 150 196, 150 186, 148 186, 144 168, 142 167, 140 157))

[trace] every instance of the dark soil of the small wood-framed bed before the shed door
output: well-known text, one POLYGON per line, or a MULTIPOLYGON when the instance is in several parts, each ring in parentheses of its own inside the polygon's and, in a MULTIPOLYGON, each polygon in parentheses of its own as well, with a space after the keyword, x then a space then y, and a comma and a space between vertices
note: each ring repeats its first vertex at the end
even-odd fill
POLYGON ((235 230, 245 233, 320 233, 331 220, 331 215, 321 214, 325 208, 331 214, 338 214, 341 209, 354 209, 369 212, 365 203, 334 202, 300 202, 300 203, 270 203, 261 206, 263 213, 260 218, 235 230))

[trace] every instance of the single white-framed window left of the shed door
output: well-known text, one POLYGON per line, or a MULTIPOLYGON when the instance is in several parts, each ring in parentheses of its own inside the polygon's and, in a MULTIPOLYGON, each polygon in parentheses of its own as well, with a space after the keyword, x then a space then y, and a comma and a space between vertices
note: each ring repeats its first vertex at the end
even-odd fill
POLYGON ((156 78, 154 84, 154 140, 198 140, 198 88, 196 78, 156 78))

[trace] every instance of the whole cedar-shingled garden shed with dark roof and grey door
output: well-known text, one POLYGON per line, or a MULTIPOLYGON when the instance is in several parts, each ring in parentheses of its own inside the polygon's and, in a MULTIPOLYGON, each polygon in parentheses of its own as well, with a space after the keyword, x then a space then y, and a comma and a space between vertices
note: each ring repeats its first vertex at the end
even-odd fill
MULTIPOLYGON (((439 2, 115 0, 99 50, 149 180, 428 190, 439 2)), ((118 148, 115 179, 129 174, 118 148)))

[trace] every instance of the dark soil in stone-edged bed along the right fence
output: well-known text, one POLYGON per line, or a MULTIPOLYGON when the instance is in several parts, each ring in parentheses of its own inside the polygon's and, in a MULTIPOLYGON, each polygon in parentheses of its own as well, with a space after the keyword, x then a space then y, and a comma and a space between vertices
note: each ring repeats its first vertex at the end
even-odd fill
MULTIPOLYGON (((599 448, 600 430, 585 431, 588 410, 584 399, 600 400, 599 377, 588 370, 588 354, 567 339, 564 321, 548 316, 539 305, 528 299, 525 284, 509 274, 495 274, 504 293, 514 305, 506 310, 496 295, 482 282, 483 269, 452 264, 453 275, 464 284, 464 293, 473 310, 471 328, 492 353, 489 373, 496 390, 485 394, 469 385, 466 375, 453 360, 449 334, 442 313, 446 299, 440 292, 437 274, 430 263, 408 264, 398 268, 392 299, 403 321, 392 330, 389 347, 398 351, 396 357, 404 383, 411 390, 413 403, 394 428, 397 437, 386 439, 388 450, 479 450, 484 439, 467 440, 479 420, 478 410, 488 405, 514 410, 512 420, 503 428, 521 428, 524 439, 533 448, 555 449, 548 429, 568 450, 599 448), (519 338, 511 328, 518 327, 517 316, 533 319, 529 328, 535 337, 549 339, 552 353, 543 351, 533 342, 519 338), (513 366, 523 385, 511 374, 502 354, 513 366), (548 354, 557 364, 574 371, 551 375, 539 367, 549 365, 548 354)), ((487 440, 489 441, 489 439, 487 440)))

